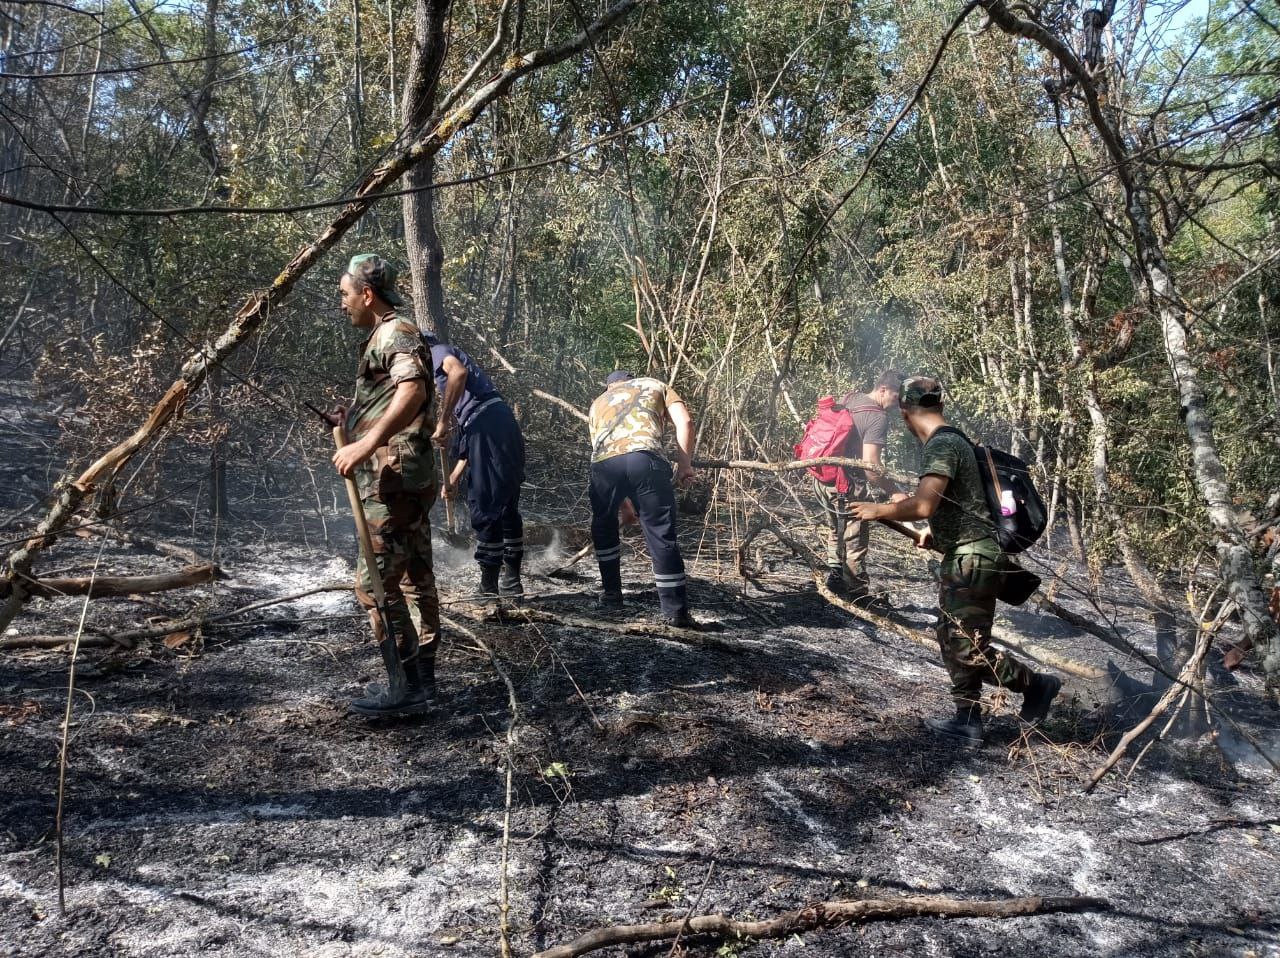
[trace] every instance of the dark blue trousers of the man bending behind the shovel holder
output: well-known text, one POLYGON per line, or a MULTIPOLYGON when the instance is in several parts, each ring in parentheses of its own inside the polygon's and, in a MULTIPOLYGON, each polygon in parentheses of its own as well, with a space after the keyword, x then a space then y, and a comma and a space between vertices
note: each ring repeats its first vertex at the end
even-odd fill
POLYGON ((466 448, 467 506, 476 533, 476 562, 520 564, 525 523, 520 516, 520 484, 525 480, 525 437, 506 402, 480 412, 462 434, 466 448))

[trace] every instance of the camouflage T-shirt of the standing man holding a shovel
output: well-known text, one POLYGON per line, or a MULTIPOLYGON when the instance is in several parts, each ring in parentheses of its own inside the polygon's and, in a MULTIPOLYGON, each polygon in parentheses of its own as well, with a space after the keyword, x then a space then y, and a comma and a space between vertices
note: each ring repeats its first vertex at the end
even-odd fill
POLYGON ((355 442, 390 409, 396 387, 412 379, 426 386, 426 401, 407 426, 392 435, 356 469, 361 498, 401 492, 425 492, 435 483, 431 453, 431 360, 417 327, 388 314, 361 347, 356 370, 356 400, 347 410, 347 441, 355 442))

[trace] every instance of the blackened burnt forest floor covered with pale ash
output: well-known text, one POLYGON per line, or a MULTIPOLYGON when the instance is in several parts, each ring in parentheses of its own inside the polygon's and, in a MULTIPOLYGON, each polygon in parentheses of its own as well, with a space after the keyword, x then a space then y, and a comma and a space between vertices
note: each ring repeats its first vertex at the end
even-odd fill
MULTIPOLYGON (((20 429, 0 434, 0 519, 47 488, 47 470, 18 450, 52 429, 6 423, 20 429), (19 474, 33 476, 31 491, 19 474)), ((581 502, 545 506, 559 501, 553 487, 572 493, 576 483, 549 467, 541 475, 530 512, 541 506, 544 521, 580 526, 581 502)), ((326 543, 310 487, 268 489, 260 478, 242 483, 239 517, 219 529, 216 558, 229 578, 96 599, 90 628, 232 610, 349 575, 355 548, 333 489, 319 497, 326 543)), ((189 496, 141 515, 133 528, 210 553, 210 525, 189 496)), ((1280 954, 1280 788, 1221 718, 1221 747, 1208 738, 1158 744, 1137 771, 1126 759, 1091 795, 1082 779, 1133 711, 1114 686, 1070 680, 1043 734, 1029 736, 1016 702, 993 699, 987 747, 957 752, 920 726, 947 710, 936 654, 827 606, 785 552, 765 555, 771 570, 744 590, 730 535, 717 529, 686 521, 686 556, 699 615, 724 630, 678 640, 483 621, 461 601, 470 561, 438 546, 447 615, 494 651, 520 702, 508 866, 516 954, 695 905, 763 918, 820 899, 904 894, 1097 895, 1112 911, 913 920, 681 948, 1280 954)), ((623 620, 644 621, 655 596, 643 587, 643 546, 631 542, 625 575, 636 589, 623 620)), ((60 543, 40 569, 87 571, 99 546, 60 543)), ((534 551, 531 607, 594 615, 590 560, 576 579, 536 575, 571 551, 567 535, 534 551)), ((900 619, 927 628, 923 564, 879 532, 873 557, 900 619)), ((102 565, 179 564, 109 544, 102 565)), ((1068 578, 1087 581, 1078 569, 1068 578)), ((1149 633, 1120 574, 1106 576, 1101 593, 1121 628, 1149 633)), ((1064 601, 1087 608, 1071 593, 1064 601)), ((72 631, 81 606, 33 602, 10 634, 72 631)), ((1053 617, 1002 615, 1046 647, 1108 661, 1106 647, 1053 617)), ((65 917, 52 824, 68 654, 0 652, 0 954, 498 954, 509 712, 488 657, 454 631, 439 707, 422 721, 370 725, 344 710, 379 671, 348 594, 246 619, 270 621, 209 629, 177 648, 155 639, 82 651, 65 917)), ((1219 715, 1280 751, 1280 716, 1262 703, 1258 676, 1213 669, 1211 681, 1219 715)))

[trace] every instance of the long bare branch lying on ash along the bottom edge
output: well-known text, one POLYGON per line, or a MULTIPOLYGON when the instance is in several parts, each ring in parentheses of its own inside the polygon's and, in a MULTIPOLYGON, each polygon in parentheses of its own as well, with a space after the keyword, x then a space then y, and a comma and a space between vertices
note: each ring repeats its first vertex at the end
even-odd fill
POLYGON ((905 918, 1018 918, 1027 914, 1061 914, 1064 912, 1103 912, 1111 908, 1101 898, 1007 898, 986 902, 964 902, 955 898, 899 898, 863 902, 815 902, 776 918, 737 921, 726 914, 699 914, 686 921, 657 921, 645 925, 613 925, 580 935, 563 945, 539 952, 534 958, 579 958, 614 945, 643 941, 668 941, 684 938, 773 939, 800 935, 841 925, 865 925, 873 921, 905 918))

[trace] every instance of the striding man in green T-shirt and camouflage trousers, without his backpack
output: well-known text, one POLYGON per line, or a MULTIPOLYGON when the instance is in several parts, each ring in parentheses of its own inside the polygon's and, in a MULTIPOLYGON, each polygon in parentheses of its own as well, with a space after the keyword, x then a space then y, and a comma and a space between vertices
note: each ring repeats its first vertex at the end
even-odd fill
POLYGON ((1021 717, 1037 724, 1048 715, 1062 681, 1033 672, 991 647, 996 597, 1009 562, 992 538, 973 446, 942 418, 942 384, 913 377, 902 383, 899 405, 906 428, 924 443, 915 494, 896 503, 859 502, 852 508, 865 520, 929 520, 932 542, 942 552, 937 633, 942 663, 951 675, 956 715, 928 718, 925 725, 943 738, 977 748, 983 735, 983 683, 1021 693, 1021 717))

